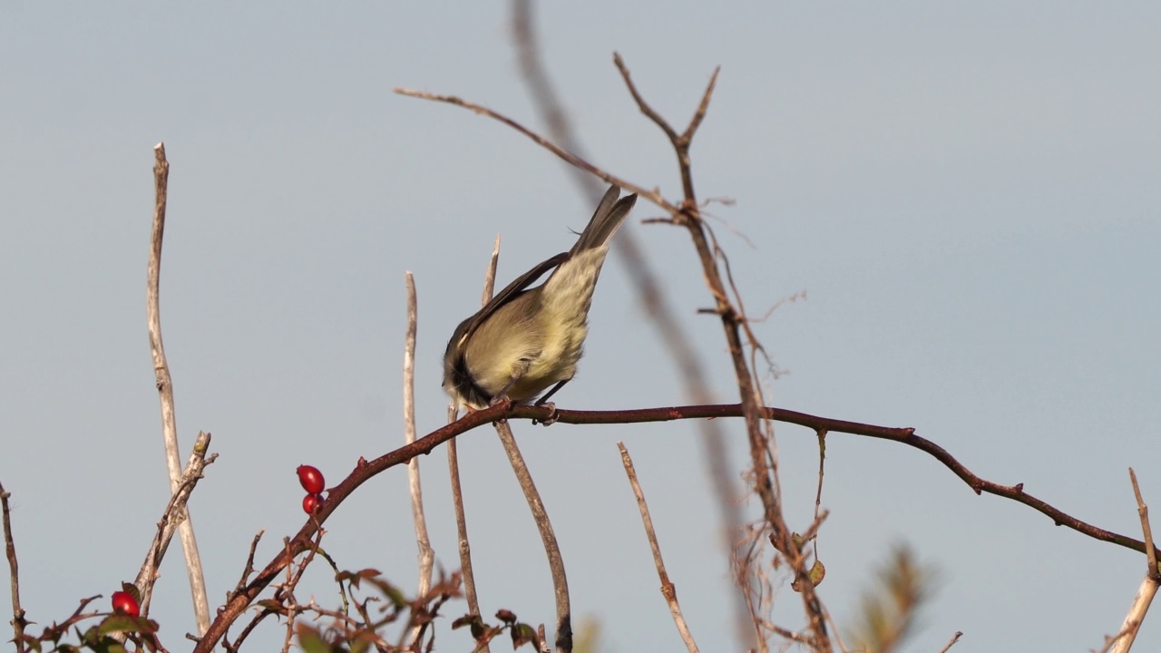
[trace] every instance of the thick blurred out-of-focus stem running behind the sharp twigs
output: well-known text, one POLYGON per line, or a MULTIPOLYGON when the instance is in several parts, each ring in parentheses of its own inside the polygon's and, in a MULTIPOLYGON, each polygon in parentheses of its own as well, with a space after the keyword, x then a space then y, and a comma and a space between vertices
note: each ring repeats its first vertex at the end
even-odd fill
MULTIPOLYGON (((513 0, 512 41, 517 49, 525 85, 541 120, 548 128, 551 141, 558 143, 563 150, 572 152, 582 159, 589 159, 585 149, 575 135, 569 116, 546 70, 533 13, 534 3, 531 0, 513 0)), ((565 166, 565 168, 587 199, 596 204, 604 193, 600 182, 582 168, 571 165, 565 166)), ((636 231, 622 229, 613 242, 613 247, 621 263, 625 264, 632 286, 637 293, 637 306, 644 309, 679 372, 685 397, 691 403, 712 402, 713 393, 709 389, 701 357, 690 343, 690 337, 665 295, 664 288, 657 282, 647 254, 637 239, 636 231)), ((742 529, 741 504, 735 496, 737 494, 735 474, 729 464, 730 443, 726 439, 719 422, 700 422, 698 430, 701 436, 702 457, 713 482, 714 498, 717 502, 717 512, 722 522, 722 541, 730 552, 729 566, 738 560, 735 539, 742 529)), ((750 648, 753 640, 752 626, 743 597, 745 591, 749 589, 742 587, 741 591, 733 594, 738 648, 750 648)))

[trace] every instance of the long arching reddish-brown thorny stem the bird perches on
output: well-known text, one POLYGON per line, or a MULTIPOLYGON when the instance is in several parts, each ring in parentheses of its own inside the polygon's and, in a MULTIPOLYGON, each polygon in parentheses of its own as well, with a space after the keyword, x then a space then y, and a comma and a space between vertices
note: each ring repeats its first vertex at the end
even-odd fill
MULTIPOLYGON (((435 447, 448 440, 476 429, 483 424, 491 424, 499 419, 536 419, 543 422, 555 418, 563 424, 632 424, 642 422, 668 422, 672 419, 711 419, 722 417, 741 417, 743 409, 741 404, 707 404, 707 406, 684 406, 648 408, 637 410, 562 410, 548 406, 513 406, 509 401, 502 401, 496 406, 476 410, 447 424, 431 433, 417 439, 410 445, 402 446, 388 452, 370 461, 360 461, 355 468, 339 485, 327 490, 327 501, 323 508, 311 516, 311 518, 298 530, 298 533, 290 540, 287 551, 280 552, 267 566, 259 572, 254 580, 250 581, 240 591, 232 594, 217 613, 210 630, 197 643, 194 651, 208 653, 221 639, 228 624, 241 615, 250 603, 271 584, 274 577, 289 564, 289 555, 304 551, 310 546, 311 534, 316 532, 320 524, 336 510, 351 494, 362 483, 391 467, 403 465, 417 455, 425 455, 435 447), (555 410, 555 412, 554 412, 555 410)), ((878 426, 873 424, 861 424, 820 417, 781 408, 763 408, 762 417, 774 419, 788 424, 806 426, 812 431, 827 430, 834 433, 851 433, 857 436, 885 439, 904 444, 923 451, 950 468, 957 476, 967 483, 976 494, 988 493, 1017 501, 1034 510, 1047 515, 1058 525, 1068 526, 1082 534, 1109 541, 1125 548, 1131 548, 1140 553, 1145 552, 1145 543, 1128 536, 1115 533, 1073 517, 1059 508, 1055 508, 1040 498, 1024 491, 1023 485, 1002 486, 976 476, 945 449, 915 435, 910 428, 878 426)))

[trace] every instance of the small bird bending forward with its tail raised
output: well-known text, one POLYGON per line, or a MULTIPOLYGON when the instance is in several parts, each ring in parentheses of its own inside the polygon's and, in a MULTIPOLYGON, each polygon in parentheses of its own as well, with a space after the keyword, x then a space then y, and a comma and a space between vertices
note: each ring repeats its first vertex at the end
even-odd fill
POLYGON ((540 406, 572 379, 608 242, 637 200, 618 200, 620 194, 618 186, 605 193, 571 250, 521 274, 455 328, 444 354, 444 389, 457 406, 527 402, 553 386, 540 406), (549 270, 547 281, 528 288, 549 270))

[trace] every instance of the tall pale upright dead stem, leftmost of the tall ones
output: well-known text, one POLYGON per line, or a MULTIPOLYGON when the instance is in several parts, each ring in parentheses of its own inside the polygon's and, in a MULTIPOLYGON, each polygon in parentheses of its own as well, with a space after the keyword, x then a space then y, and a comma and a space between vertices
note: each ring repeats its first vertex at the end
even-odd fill
MULTIPOLYGON (((153 352, 153 372, 157 376, 157 390, 161 399, 161 431, 165 440, 165 461, 170 473, 170 491, 176 494, 181 483, 180 447, 178 446, 178 425, 173 406, 173 379, 170 376, 170 365, 165 359, 165 346, 161 344, 161 311, 159 307, 159 288, 161 278, 161 239, 165 234, 165 209, 170 185, 170 162, 165 158, 165 144, 153 146, 156 163, 153 165, 154 207, 153 235, 149 257, 149 284, 146 306, 149 307, 149 340, 153 352)), ((186 553, 186 572, 189 576, 189 591, 194 601, 194 616, 197 619, 197 632, 205 633, 210 625, 209 600, 205 597, 205 577, 202 574, 201 554, 197 552, 197 540, 194 537, 194 523, 188 509, 183 514, 180 528, 181 547, 186 553)))

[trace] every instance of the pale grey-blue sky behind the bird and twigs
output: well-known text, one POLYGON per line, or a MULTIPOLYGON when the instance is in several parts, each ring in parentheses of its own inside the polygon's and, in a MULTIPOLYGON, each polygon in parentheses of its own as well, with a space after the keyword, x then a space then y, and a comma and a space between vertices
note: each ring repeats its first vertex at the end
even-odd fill
MULTIPOLYGON (((441 357, 499 282, 571 245, 592 211, 569 171, 511 129, 392 93, 449 93, 542 129, 504 2, 0 6, 0 482, 28 617, 132 580, 168 480, 145 330, 153 145, 172 164, 161 321, 180 440, 219 454, 190 502, 211 605, 304 522, 294 469, 330 485, 403 440, 404 273, 416 277, 420 435, 445 419, 441 357)), ((545 3, 536 27, 593 163, 671 201, 663 135, 612 65, 684 124, 721 66, 692 149, 711 225, 778 368, 773 406, 914 426, 976 474, 1140 537, 1128 482, 1161 504, 1161 45, 1155 2, 545 3), (793 302, 783 300, 802 296, 793 302)), ((662 215, 639 202, 633 220, 662 215)), ((680 229, 633 224, 700 352, 737 400, 680 229)), ((619 409, 687 400, 611 258, 586 357, 555 399, 619 409)), ((722 424, 733 480, 741 422, 722 424)), ((722 533, 690 423, 533 429, 517 439, 601 651, 680 639, 615 443, 634 457, 670 579, 704 651, 734 639, 722 533)), ((817 444, 777 426, 785 510, 806 529, 817 444)), ((182 455, 185 458, 185 455, 182 455)), ((460 438, 483 611, 551 623, 536 530, 489 429, 460 438)), ((439 562, 457 567, 445 452, 421 460, 439 562)), ((930 457, 828 438, 820 597, 844 626, 893 546, 936 569, 906 651, 1089 651, 1119 629, 1141 555, 976 496, 930 457)), ((403 468, 326 524, 341 568, 416 584, 403 468)), ((180 555, 152 616, 194 630, 180 555)), ((334 603, 323 566, 300 596, 334 603)), ((10 613, 8 593, 0 611, 10 613)), ((801 624, 788 588, 774 616, 801 624)), ((452 617, 466 612, 454 604, 452 617)), ((5 620, 8 620, 5 618, 5 620)), ((271 624, 252 648, 269 650, 271 624)), ((439 651, 467 651, 440 631, 439 651)), ((1146 619, 1137 650, 1161 650, 1146 619)))

